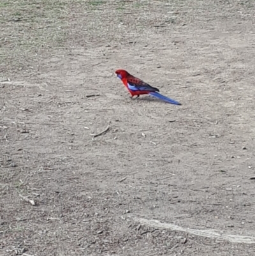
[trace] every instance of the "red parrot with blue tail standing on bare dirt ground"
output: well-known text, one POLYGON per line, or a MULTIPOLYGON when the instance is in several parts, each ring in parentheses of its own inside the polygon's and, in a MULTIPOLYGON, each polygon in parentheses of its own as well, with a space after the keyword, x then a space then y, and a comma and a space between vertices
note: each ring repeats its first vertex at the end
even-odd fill
POLYGON ((133 96, 136 96, 135 99, 139 98, 142 94, 149 94, 151 96, 154 96, 155 98, 158 98, 160 100, 163 100, 164 102, 168 102, 174 105, 182 105, 181 103, 177 102, 176 100, 172 100, 162 94, 159 93, 159 89, 156 87, 152 87, 146 82, 143 82, 143 80, 138 79, 137 77, 134 77, 130 73, 128 73, 126 70, 116 70, 115 75, 119 77, 120 80, 122 80, 122 83, 126 88, 128 89, 129 93, 131 94, 131 99, 133 96))

